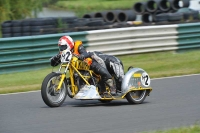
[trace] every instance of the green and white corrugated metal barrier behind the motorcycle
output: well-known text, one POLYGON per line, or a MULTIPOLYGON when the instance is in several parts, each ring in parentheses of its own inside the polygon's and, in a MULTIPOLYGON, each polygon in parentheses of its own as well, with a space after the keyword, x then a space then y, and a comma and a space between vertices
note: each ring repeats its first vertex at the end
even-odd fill
POLYGON ((0 74, 50 66, 63 35, 82 40, 88 51, 111 55, 200 48, 200 23, 0 38, 0 74))

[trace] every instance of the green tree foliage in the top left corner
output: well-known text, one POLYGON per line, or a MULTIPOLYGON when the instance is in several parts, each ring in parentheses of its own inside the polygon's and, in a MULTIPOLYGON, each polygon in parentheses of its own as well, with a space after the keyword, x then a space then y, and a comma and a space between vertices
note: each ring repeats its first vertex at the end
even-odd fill
POLYGON ((6 20, 35 17, 42 10, 44 3, 51 0, 0 0, 0 23, 6 20))

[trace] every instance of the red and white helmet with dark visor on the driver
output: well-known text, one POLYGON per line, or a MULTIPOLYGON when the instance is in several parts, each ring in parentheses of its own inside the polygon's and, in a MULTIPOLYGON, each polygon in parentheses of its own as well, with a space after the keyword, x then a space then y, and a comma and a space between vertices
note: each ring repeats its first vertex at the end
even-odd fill
POLYGON ((62 36, 58 41, 58 47, 60 51, 74 48, 74 41, 70 36, 62 36))

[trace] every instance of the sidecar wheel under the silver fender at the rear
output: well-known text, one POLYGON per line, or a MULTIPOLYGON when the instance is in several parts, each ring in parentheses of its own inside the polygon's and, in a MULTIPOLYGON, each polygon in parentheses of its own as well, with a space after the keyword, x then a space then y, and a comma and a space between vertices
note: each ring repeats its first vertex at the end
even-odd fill
POLYGON ((126 94, 126 99, 131 104, 140 104, 147 96, 147 90, 131 91, 126 94))

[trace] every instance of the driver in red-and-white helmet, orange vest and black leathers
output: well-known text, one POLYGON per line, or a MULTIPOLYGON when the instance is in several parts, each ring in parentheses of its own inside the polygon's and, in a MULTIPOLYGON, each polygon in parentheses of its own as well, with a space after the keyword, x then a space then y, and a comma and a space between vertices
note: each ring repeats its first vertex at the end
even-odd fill
MULTIPOLYGON (((82 41, 74 42, 70 36, 62 36, 58 41, 58 46, 60 53, 53 56, 51 58, 51 66, 57 66, 61 63, 60 57, 61 52, 65 49, 69 49, 73 54, 78 55, 79 59, 85 60, 86 58, 90 57, 90 54, 87 53, 86 49, 82 45, 82 41)), ((116 94, 116 88, 114 86, 112 76, 108 72, 108 70, 102 67, 96 60, 92 59, 92 63, 90 68, 96 73, 101 75, 101 79, 104 83, 106 83, 112 95, 116 94)))

